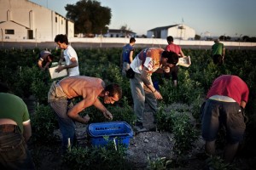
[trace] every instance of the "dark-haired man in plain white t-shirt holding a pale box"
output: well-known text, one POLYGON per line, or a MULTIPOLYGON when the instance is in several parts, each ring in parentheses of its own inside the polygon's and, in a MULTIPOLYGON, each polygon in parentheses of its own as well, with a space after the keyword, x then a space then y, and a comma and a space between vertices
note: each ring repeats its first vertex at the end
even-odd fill
MULTIPOLYGON (((68 45, 67 36, 63 34, 56 35, 55 42, 61 49, 64 49, 63 58, 66 62, 66 65, 60 65, 58 68, 56 68, 55 71, 60 72, 64 69, 67 69, 69 77, 79 76, 80 73, 78 55, 76 51, 73 49, 73 47, 68 45)), ((62 62, 63 58, 61 57, 59 63, 62 62)))

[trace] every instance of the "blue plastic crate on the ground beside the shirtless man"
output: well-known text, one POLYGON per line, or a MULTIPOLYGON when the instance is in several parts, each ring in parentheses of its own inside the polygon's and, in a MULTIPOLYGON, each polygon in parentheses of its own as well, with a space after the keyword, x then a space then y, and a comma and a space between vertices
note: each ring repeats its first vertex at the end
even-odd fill
POLYGON ((128 147, 133 136, 132 128, 127 122, 90 123, 87 133, 90 143, 95 146, 104 146, 114 139, 116 144, 125 144, 128 147), (104 136, 108 139, 104 139, 104 136))

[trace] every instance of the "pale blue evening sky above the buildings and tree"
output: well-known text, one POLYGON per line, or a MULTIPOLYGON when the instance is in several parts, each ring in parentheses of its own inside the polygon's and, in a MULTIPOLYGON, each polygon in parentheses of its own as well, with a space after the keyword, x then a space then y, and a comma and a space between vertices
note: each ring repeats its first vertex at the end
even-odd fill
MULTIPOLYGON (((30 0, 66 17, 79 0, 30 0)), ((111 8, 109 29, 127 26, 137 35, 160 26, 184 24, 202 37, 256 37, 256 0, 97 0, 111 8)))

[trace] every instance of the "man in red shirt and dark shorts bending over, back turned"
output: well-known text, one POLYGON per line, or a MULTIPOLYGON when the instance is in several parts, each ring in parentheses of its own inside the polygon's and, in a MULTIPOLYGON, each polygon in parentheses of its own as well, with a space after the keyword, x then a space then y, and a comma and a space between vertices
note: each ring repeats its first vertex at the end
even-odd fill
POLYGON ((202 137, 206 140, 207 154, 215 155, 218 129, 224 126, 227 140, 224 161, 230 163, 234 160, 246 129, 244 109, 248 95, 247 84, 240 77, 223 75, 214 80, 212 88, 207 93, 201 120, 202 137))

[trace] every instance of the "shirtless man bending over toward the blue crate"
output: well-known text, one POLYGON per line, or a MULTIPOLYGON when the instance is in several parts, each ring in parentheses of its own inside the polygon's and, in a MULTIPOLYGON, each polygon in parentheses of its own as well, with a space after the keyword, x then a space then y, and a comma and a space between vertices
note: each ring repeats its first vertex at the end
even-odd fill
POLYGON ((79 112, 94 105, 102 111, 103 116, 112 120, 112 114, 106 109, 105 104, 113 104, 122 97, 122 90, 117 84, 105 85, 105 82, 96 77, 66 77, 60 82, 53 82, 49 89, 48 102, 55 111, 62 134, 62 151, 67 151, 68 139, 71 145, 76 142, 75 123, 87 123, 90 120, 88 115, 79 116, 79 112), (81 97, 78 104, 73 105, 71 99, 81 97))

